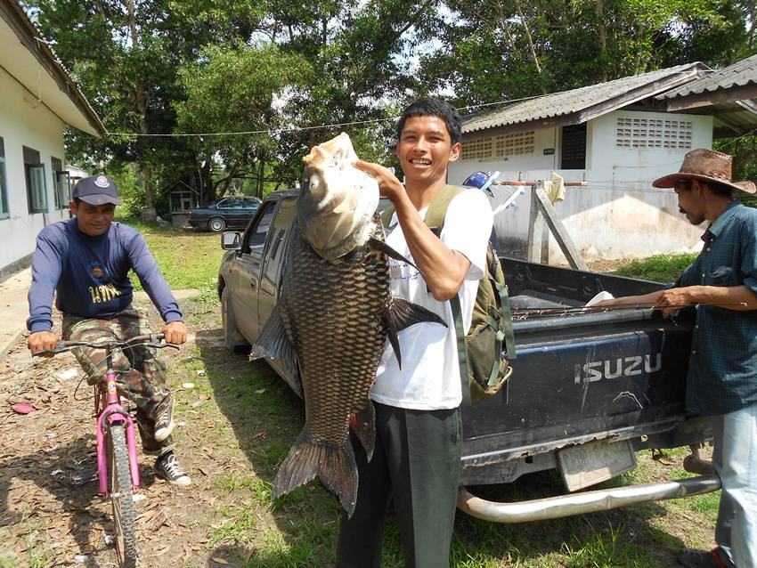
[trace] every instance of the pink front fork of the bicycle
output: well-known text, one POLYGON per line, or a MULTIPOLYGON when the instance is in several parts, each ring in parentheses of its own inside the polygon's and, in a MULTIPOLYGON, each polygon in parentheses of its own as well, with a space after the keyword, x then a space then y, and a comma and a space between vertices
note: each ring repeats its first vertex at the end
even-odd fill
POLYGON ((113 369, 111 362, 110 349, 107 352, 107 367, 105 373, 105 394, 106 406, 97 417, 97 432, 95 438, 97 441, 97 477, 100 483, 100 493, 108 493, 108 456, 105 446, 105 428, 117 422, 124 423, 126 430, 126 448, 129 453, 129 469, 132 475, 132 485, 139 485, 139 465, 136 458, 136 440, 134 437, 134 419, 124 410, 118 401, 118 392, 116 390, 116 371, 113 369))

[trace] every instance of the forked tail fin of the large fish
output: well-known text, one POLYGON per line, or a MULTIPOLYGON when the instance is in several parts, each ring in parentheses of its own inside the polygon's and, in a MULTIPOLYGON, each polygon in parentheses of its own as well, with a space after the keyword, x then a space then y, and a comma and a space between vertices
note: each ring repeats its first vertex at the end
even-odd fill
POLYGON ((357 501, 357 465, 352 445, 349 442, 341 446, 315 442, 305 430, 297 436, 281 464, 273 480, 271 498, 297 489, 316 475, 329 491, 338 496, 347 515, 352 516, 357 501))

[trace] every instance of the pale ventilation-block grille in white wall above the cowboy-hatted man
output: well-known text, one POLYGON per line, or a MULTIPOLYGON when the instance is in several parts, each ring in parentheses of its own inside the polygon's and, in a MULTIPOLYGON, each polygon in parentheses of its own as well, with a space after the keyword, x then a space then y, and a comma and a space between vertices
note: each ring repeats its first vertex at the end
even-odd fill
POLYGON ((693 123, 688 120, 619 117, 615 125, 615 146, 691 150, 693 129, 693 123))

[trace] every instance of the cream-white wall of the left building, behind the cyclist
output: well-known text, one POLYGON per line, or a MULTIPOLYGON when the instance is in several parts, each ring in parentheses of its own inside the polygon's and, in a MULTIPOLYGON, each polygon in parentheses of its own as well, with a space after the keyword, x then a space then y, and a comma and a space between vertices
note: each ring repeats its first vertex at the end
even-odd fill
MULTIPOLYGON (((37 233, 45 225, 69 218, 67 208, 56 210, 52 157, 65 167, 63 129, 66 125, 45 104, 0 68, 0 137, 5 147, 9 214, 0 218, 0 271, 34 252, 37 233), (45 164, 47 212, 28 212, 22 146, 39 151, 45 164)), ((66 204, 68 206, 68 203, 66 204)))

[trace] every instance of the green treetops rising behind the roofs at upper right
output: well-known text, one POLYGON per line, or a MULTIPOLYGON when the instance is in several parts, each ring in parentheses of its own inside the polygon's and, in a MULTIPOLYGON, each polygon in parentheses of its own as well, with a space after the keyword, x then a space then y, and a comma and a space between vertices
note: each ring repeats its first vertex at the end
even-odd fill
MULTIPOLYGON (((746 3, 746 0, 745 0, 746 3)), ((423 59, 436 89, 491 102, 646 71, 739 59, 745 9, 734 0, 447 0, 441 46, 423 59)))

